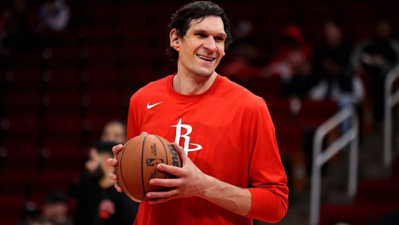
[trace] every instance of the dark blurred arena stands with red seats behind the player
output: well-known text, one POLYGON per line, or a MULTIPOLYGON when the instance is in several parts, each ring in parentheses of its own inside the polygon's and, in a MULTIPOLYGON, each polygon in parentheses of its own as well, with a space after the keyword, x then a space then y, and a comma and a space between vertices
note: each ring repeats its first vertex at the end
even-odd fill
MULTIPOLYGON (((391 163, 382 150, 399 2, 214 2, 234 37, 217 72, 263 97, 275 126, 290 187, 278 224, 309 224, 314 133, 348 105, 360 124, 357 192, 346 194, 345 146, 322 167, 320 224, 399 224, 397 106, 391 163)), ((0 2, 0 224, 33 224, 26 218, 44 215, 54 198, 72 224, 79 177, 105 124, 126 121, 130 96, 176 71, 167 25, 186 3, 0 2)), ((328 131, 323 147, 352 125, 328 131)))

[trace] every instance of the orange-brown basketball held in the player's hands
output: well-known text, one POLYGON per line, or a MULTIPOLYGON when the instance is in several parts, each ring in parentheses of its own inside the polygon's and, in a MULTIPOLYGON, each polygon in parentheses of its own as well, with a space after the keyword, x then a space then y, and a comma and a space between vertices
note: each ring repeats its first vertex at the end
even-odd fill
POLYGON ((182 167, 176 149, 168 140, 152 134, 133 137, 116 155, 118 184, 134 201, 147 201, 148 192, 163 191, 166 187, 150 185, 152 178, 171 178, 172 174, 156 169, 159 163, 182 167))

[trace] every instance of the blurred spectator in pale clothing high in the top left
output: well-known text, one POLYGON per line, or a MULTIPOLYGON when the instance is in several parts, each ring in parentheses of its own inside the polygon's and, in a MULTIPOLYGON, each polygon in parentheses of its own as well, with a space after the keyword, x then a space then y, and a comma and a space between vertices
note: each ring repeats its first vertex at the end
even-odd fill
POLYGON ((38 31, 63 31, 69 23, 70 10, 64 0, 46 1, 37 12, 38 31))

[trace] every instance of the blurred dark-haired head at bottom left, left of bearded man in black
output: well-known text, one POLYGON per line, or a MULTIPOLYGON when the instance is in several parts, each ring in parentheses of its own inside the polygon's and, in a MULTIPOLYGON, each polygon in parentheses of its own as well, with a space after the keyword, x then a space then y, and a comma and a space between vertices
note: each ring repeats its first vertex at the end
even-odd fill
POLYGON ((72 225, 68 217, 68 198, 62 192, 50 193, 45 198, 42 215, 54 225, 72 225))

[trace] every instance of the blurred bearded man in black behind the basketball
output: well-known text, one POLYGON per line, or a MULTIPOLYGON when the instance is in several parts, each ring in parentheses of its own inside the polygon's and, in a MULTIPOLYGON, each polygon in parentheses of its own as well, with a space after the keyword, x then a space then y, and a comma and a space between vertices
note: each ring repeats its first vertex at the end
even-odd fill
POLYGON ((134 221, 138 205, 114 188, 109 174, 113 167, 106 160, 112 157, 116 142, 97 141, 90 149, 90 158, 78 187, 75 224, 126 224, 134 221))

